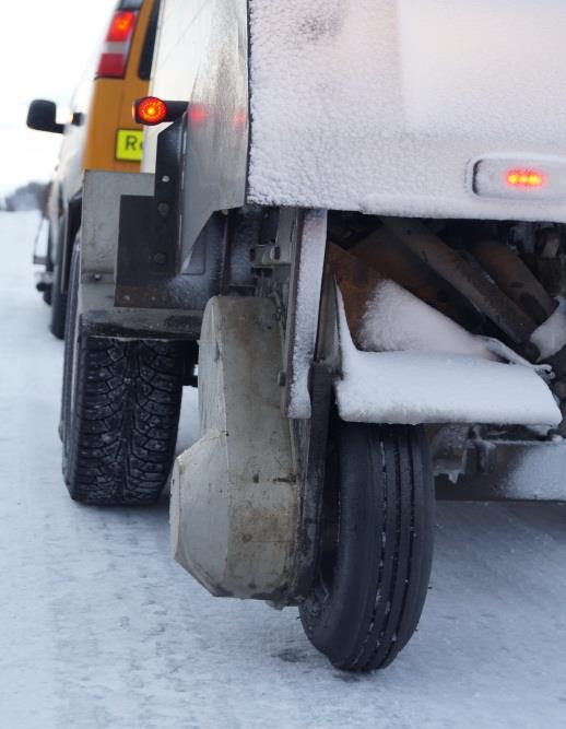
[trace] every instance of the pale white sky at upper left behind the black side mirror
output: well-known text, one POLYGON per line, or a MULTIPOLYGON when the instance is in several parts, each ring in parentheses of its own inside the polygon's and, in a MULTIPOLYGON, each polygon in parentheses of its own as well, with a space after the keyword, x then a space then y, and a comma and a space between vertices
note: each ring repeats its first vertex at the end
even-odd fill
POLYGON ((0 195, 31 179, 48 180, 59 134, 25 126, 34 98, 64 109, 97 52, 117 0, 1 0, 0 195))

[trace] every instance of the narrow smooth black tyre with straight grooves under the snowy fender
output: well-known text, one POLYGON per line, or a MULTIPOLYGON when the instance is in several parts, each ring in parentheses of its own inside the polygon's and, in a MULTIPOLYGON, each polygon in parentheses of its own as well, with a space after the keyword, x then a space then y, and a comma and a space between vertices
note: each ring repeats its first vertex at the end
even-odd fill
POLYGON ((385 668, 413 635, 433 553, 434 491, 422 428, 338 421, 320 554, 300 620, 339 669, 385 668))

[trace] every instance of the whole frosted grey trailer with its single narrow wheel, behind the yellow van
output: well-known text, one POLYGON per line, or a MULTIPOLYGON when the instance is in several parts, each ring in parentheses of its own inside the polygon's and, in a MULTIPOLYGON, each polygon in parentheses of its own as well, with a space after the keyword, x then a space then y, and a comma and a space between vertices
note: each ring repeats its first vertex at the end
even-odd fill
POLYGON ((83 321, 198 360, 176 560, 384 668, 423 609, 434 478, 505 497, 521 459, 566 465, 566 5, 191 8, 164 2, 152 87, 188 107, 148 132, 83 321))

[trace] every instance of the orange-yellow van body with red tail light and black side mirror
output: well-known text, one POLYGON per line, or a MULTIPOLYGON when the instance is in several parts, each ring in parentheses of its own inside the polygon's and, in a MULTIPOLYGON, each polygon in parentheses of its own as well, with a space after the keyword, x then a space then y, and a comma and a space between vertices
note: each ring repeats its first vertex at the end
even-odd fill
POLYGON ((27 126, 62 134, 48 201, 49 245, 37 284, 51 304, 51 331, 64 338, 71 250, 81 225, 87 169, 140 172, 143 132, 131 117, 132 101, 148 93, 160 0, 121 0, 101 52, 83 74, 66 124, 54 102, 35 99, 27 126))

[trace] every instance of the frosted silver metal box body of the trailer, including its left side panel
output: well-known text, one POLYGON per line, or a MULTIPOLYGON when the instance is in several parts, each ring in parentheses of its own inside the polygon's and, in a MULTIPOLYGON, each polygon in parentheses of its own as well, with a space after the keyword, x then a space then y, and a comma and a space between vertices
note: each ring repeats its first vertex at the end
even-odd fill
POLYGON ((193 107, 188 248, 213 200, 566 221, 564 3, 250 0, 247 10, 168 0, 162 16, 153 93, 193 107), (526 168, 542 169, 538 189, 504 184, 526 168))

